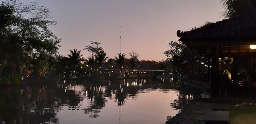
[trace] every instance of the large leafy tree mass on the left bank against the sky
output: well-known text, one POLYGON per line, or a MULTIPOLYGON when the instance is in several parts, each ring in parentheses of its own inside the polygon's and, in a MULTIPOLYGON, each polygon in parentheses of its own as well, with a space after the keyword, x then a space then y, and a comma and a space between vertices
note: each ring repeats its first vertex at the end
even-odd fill
POLYGON ((29 68, 39 65, 38 70, 48 72, 46 66, 58 53, 61 42, 48 29, 56 24, 50 20, 48 8, 37 3, 5 0, 0 5, 0 19, 0 64, 6 63, 0 68, 0 76, 18 75, 21 79, 21 76, 26 77, 29 68))

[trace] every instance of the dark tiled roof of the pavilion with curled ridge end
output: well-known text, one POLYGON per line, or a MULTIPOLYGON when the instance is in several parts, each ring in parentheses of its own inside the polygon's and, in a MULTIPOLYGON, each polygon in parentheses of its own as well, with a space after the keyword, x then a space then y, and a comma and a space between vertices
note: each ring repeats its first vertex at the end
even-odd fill
POLYGON ((256 39, 256 13, 236 16, 191 31, 177 31, 179 41, 256 39))

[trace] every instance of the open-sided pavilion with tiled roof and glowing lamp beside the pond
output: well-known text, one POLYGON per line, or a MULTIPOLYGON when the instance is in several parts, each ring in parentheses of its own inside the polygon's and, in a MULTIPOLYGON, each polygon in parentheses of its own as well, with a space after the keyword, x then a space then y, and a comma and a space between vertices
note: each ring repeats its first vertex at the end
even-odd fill
POLYGON ((209 23, 191 31, 177 31, 199 59, 189 62, 188 79, 209 83, 211 96, 219 96, 224 83, 223 71, 230 84, 253 82, 256 78, 256 13, 209 23), (245 75, 245 76, 242 76, 245 75))

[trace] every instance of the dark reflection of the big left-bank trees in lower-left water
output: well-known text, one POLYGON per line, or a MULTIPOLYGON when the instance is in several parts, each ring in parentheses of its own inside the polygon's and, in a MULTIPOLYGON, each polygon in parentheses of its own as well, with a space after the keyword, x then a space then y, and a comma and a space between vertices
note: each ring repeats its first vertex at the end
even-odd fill
POLYGON ((46 87, 20 87, 1 89, 0 93, 0 121, 6 124, 40 124, 51 121, 58 123, 54 105, 54 90, 46 87), (33 89, 33 90, 32 90, 33 89))

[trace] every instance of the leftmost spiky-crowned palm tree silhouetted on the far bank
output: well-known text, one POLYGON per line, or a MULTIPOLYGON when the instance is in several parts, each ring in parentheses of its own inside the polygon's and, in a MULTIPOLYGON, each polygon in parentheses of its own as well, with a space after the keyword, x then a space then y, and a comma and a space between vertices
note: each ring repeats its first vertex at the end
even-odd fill
POLYGON ((72 67, 72 70, 75 71, 80 67, 81 61, 84 61, 83 55, 80 55, 81 51, 77 51, 77 49, 70 50, 70 55, 67 55, 69 57, 70 65, 72 67))

